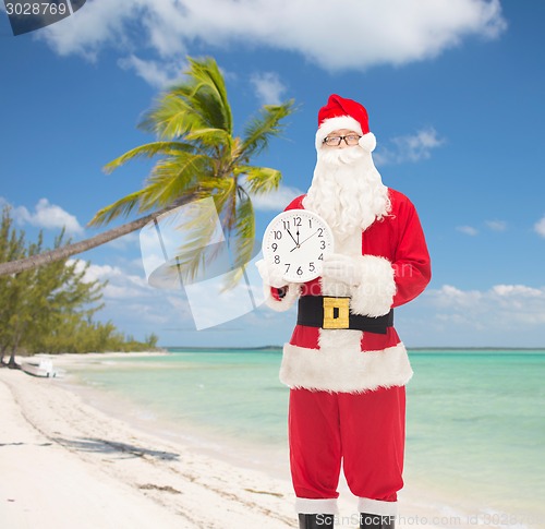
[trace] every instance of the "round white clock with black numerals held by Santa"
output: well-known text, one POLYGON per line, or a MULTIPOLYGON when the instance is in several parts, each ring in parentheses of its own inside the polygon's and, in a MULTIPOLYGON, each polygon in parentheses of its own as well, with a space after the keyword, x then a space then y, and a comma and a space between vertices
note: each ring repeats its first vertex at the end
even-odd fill
POLYGON ((305 282, 322 274, 324 256, 334 251, 326 221, 306 209, 277 215, 265 230, 263 255, 287 282, 305 282))

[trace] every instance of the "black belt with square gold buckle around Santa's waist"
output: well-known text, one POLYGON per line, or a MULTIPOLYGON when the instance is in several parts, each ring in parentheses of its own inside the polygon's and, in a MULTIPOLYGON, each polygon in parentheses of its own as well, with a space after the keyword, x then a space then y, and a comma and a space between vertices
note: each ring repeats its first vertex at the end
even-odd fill
POLYGON ((386 334, 393 326, 393 310, 384 316, 361 316, 350 312, 350 298, 303 296, 299 298, 298 325, 386 334))

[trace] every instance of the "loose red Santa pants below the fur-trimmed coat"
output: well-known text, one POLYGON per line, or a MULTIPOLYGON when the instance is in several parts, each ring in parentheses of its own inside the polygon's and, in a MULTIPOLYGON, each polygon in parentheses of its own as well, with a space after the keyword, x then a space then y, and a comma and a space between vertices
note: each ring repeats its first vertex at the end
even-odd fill
POLYGON ((360 505, 362 500, 364 505, 371 500, 372 506, 396 502, 403 486, 404 422, 404 387, 362 394, 291 389, 290 464, 298 498, 337 498, 342 461, 347 483, 361 498, 360 505))

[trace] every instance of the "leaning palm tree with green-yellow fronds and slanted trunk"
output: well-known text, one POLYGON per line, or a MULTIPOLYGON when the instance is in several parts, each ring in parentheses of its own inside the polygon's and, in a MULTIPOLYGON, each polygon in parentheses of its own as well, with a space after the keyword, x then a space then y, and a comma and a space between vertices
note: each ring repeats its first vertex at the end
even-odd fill
MULTIPOLYGON (((156 134, 157 141, 135 147, 110 161, 105 170, 134 158, 159 157, 144 187, 100 209, 92 226, 137 212, 143 217, 110 229, 90 239, 43 254, 0 264, 0 275, 14 274, 43 264, 66 259, 123 235, 135 231, 158 216, 195 200, 211 197, 223 231, 231 241, 234 266, 251 259, 255 221, 251 194, 278 188, 281 173, 268 167, 251 165, 271 137, 282 132, 280 122, 293 111, 293 100, 266 105, 250 120, 242 137, 233 135, 233 118, 227 98, 223 76, 211 58, 189 58, 185 79, 164 93, 145 115, 141 128, 156 134)), ((199 248, 210 233, 198 223, 198 244, 186 252, 186 265, 194 269, 203 257, 199 248)), ((196 240, 194 239, 194 240, 196 240)))

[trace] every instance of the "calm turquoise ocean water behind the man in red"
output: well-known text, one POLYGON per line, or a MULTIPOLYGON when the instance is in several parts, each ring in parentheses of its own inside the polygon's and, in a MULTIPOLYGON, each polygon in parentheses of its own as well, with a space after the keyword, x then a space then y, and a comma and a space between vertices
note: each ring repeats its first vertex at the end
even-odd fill
MULTIPOLYGON (((279 349, 171 352, 98 360, 70 380, 156 433, 286 457, 279 349)), ((405 482, 433 491, 445 512, 479 515, 472 525, 545 527, 545 350, 414 350, 410 359, 405 482)))

